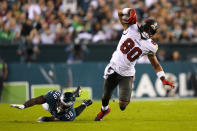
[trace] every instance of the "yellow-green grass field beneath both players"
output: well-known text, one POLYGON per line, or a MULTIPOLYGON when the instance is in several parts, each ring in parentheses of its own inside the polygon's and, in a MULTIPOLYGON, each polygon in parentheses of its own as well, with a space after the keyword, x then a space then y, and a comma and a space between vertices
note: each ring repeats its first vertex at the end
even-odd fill
POLYGON ((111 101, 111 113, 95 122, 100 106, 94 102, 73 122, 38 123, 39 116, 50 115, 41 106, 19 110, 0 104, 0 131, 197 131, 197 99, 134 100, 123 112, 111 101))

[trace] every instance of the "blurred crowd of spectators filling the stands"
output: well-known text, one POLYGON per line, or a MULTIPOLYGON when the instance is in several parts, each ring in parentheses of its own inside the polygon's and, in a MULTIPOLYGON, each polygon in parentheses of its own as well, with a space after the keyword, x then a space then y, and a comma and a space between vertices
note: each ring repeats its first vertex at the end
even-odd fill
MULTIPOLYGON (((196 0, 1 0, 0 39, 33 44, 119 40, 117 12, 137 11, 138 22, 155 18, 155 41, 197 43, 196 0)), ((109 43, 109 42, 108 42, 109 43)))

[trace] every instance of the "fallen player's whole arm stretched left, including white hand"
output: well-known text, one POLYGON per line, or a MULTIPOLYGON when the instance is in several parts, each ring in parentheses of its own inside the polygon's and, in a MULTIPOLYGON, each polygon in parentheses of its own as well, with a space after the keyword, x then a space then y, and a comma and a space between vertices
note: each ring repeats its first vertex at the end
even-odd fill
POLYGON ((25 109, 25 108, 28 108, 28 107, 31 107, 31 106, 34 106, 34 105, 43 104, 45 102, 46 102, 46 99, 42 95, 42 96, 39 96, 39 97, 36 97, 36 98, 32 98, 32 99, 26 101, 23 105, 11 104, 10 106, 14 107, 14 108, 18 108, 18 109, 25 109))

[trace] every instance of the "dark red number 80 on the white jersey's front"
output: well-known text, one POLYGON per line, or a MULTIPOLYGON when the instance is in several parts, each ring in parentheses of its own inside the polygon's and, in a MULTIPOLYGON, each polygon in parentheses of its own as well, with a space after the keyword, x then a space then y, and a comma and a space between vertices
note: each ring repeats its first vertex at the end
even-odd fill
POLYGON ((139 47, 134 47, 135 43, 131 38, 128 38, 121 45, 120 50, 123 54, 127 54, 127 59, 130 62, 135 61, 141 54, 142 50, 139 47))

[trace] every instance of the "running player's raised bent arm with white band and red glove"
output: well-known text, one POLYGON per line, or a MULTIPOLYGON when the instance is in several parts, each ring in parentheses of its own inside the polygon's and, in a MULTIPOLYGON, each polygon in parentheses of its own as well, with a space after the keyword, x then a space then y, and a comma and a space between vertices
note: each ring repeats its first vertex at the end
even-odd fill
POLYGON ((136 24, 137 22, 136 11, 131 8, 119 10, 118 16, 124 30, 126 30, 130 25, 136 24))

